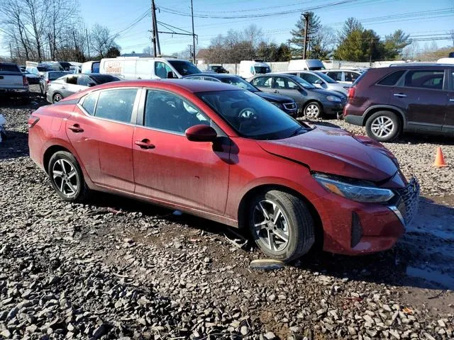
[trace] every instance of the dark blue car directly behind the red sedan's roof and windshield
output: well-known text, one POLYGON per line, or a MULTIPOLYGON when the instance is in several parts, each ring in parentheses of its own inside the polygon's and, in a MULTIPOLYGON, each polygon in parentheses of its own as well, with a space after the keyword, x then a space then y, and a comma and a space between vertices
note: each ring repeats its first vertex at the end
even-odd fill
POLYGON ((254 94, 257 94, 258 96, 274 104, 292 117, 296 118, 298 114, 298 106, 293 98, 290 98, 289 96, 282 96, 280 94, 268 94, 267 92, 259 90, 257 87, 253 86, 252 84, 248 83, 248 81, 245 81, 243 78, 240 78, 238 76, 233 76, 231 74, 201 73, 191 74, 189 76, 183 77, 183 79, 219 81, 222 83, 235 85, 242 89, 251 91, 254 94))

